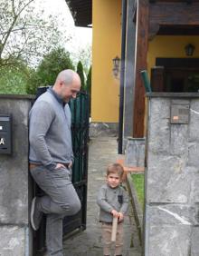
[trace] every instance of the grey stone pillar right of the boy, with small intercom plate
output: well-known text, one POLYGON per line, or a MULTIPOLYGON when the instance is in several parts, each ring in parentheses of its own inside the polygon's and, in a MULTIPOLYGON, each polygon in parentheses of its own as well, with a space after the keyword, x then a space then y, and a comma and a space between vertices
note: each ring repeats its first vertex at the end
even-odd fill
POLYGON ((199 255, 199 94, 152 93, 145 255, 199 255))

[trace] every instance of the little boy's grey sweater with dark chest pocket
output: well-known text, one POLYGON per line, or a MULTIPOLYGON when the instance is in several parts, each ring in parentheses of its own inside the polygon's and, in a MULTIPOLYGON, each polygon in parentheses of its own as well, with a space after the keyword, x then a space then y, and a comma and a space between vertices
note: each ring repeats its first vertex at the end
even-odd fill
POLYGON ((108 184, 104 184, 98 193, 97 203, 100 206, 100 222, 112 222, 112 210, 128 212, 128 194, 123 187, 111 188, 108 184), (118 200, 118 197, 121 200, 118 200), (119 202, 120 201, 120 202, 119 202))

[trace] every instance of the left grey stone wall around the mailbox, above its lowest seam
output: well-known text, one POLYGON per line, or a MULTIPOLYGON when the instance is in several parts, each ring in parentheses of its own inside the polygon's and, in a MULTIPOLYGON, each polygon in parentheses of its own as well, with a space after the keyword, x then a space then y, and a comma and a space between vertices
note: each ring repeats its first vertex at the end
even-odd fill
MULTIPOLYGON (((0 155, 0 222, 28 223, 28 100, 1 100, 13 116, 13 153, 0 155)), ((5 111, 6 110, 6 111, 5 111)))

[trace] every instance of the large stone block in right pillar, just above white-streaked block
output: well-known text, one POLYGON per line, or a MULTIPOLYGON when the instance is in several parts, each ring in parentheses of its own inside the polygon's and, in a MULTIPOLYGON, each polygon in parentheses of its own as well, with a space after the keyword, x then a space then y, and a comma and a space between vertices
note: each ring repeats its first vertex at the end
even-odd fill
POLYGON ((193 178, 183 158, 151 153, 147 168, 147 202, 188 202, 193 178))

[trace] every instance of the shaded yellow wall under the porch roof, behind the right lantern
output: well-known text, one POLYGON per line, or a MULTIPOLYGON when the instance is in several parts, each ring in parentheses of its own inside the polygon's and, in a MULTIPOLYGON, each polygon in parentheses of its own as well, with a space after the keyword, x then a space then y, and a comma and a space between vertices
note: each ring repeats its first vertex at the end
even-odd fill
MULTIPOLYGON (((150 75, 151 68, 156 65, 156 57, 185 58, 185 45, 194 44, 193 58, 199 57, 199 36, 157 35, 148 44, 147 70, 150 75)), ((190 58, 190 57, 188 57, 190 58)))

